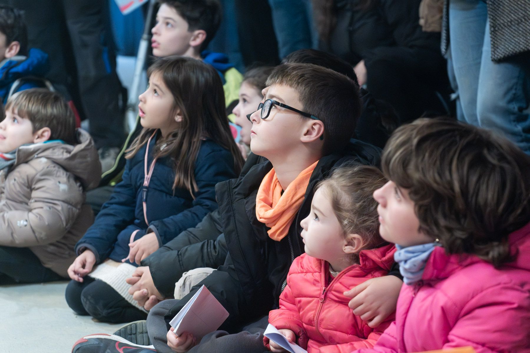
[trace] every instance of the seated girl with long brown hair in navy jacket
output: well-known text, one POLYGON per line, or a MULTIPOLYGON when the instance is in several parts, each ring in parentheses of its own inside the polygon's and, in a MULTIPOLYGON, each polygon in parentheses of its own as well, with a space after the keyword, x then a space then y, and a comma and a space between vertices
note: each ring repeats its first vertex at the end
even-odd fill
POLYGON ((213 67, 167 57, 148 75, 138 105, 143 130, 128 150, 123 181, 77 243, 68 269, 68 305, 101 321, 145 318, 125 278, 174 234, 215 210, 215 184, 236 177, 243 162, 213 67))

